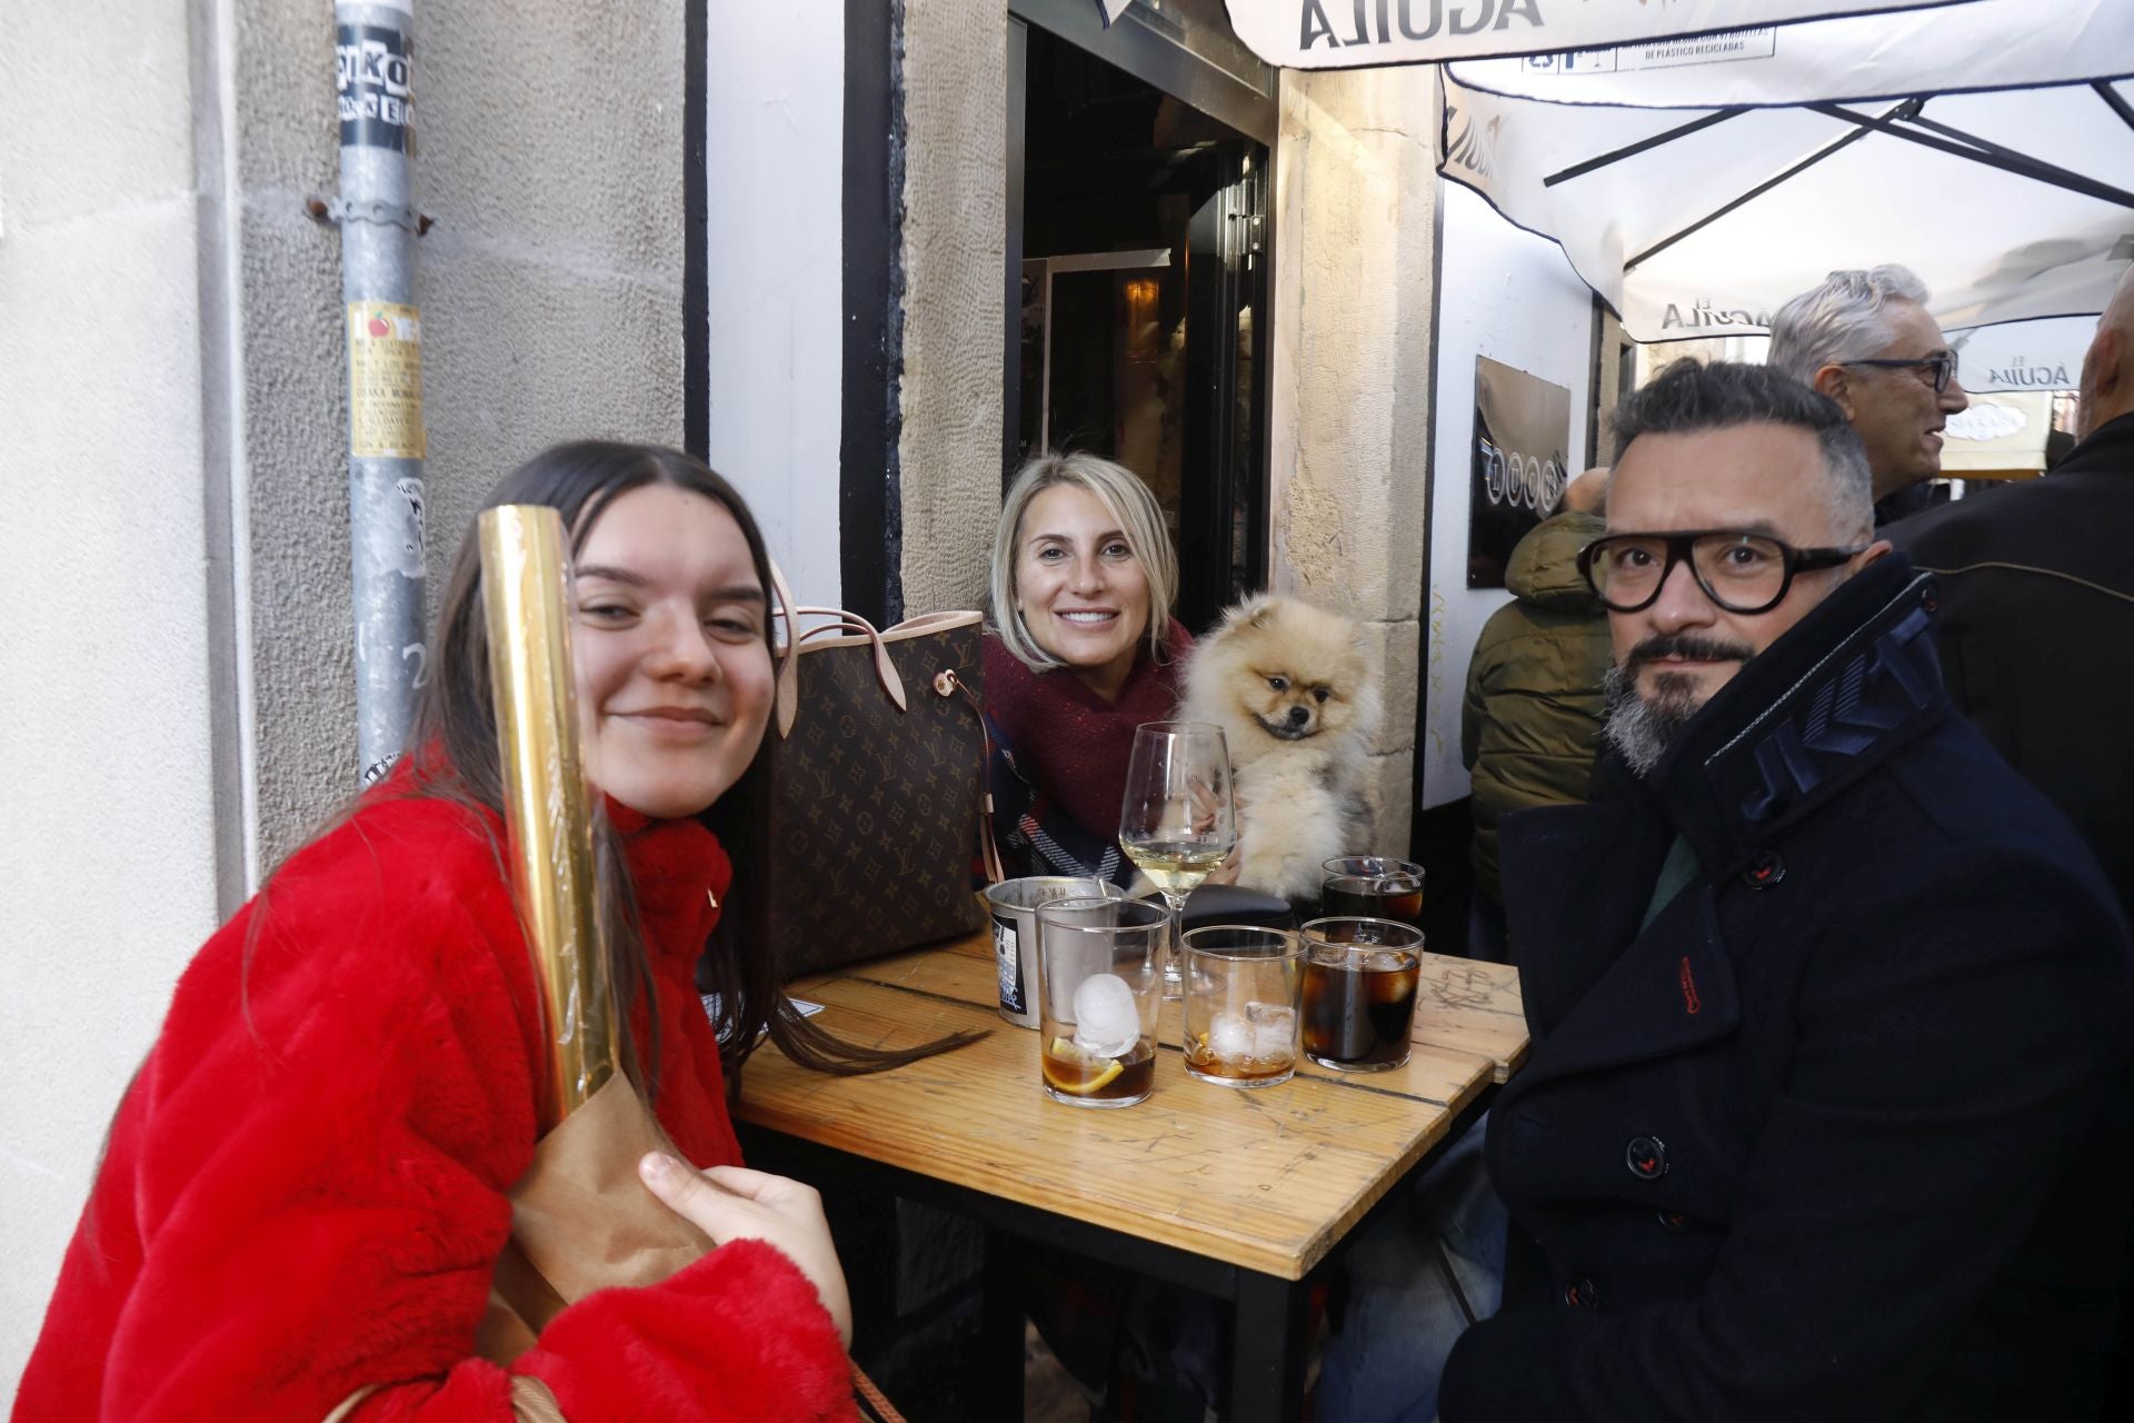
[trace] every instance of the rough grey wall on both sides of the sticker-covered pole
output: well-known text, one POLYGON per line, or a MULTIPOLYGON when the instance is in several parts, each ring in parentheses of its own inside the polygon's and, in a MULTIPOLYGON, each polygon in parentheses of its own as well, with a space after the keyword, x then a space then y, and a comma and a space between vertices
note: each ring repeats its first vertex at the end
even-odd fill
MULTIPOLYGON (((333 9, 237 0, 243 482, 260 868, 352 789, 333 9)), ((557 439, 681 444, 683 15, 653 0, 416 11, 429 595, 480 497, 557 439)))

